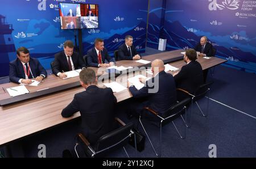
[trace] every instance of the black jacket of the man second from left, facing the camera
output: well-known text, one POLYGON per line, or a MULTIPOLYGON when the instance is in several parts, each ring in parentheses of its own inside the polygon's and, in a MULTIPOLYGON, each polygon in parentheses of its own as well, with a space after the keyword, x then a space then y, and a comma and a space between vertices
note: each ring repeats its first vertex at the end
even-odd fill
MULTIPOLYGON (((75 69, 81 69, 82 67, 86 67, 84 61, 81 59, 78 53, 73 52, 71 58, 75 69)), ((62 73, 63 71, 69 71, 68 60, 64 50, 55 54, 52 66, 52 73, 54 73, 55 75, 57 75, 59 72, 62 73)))

